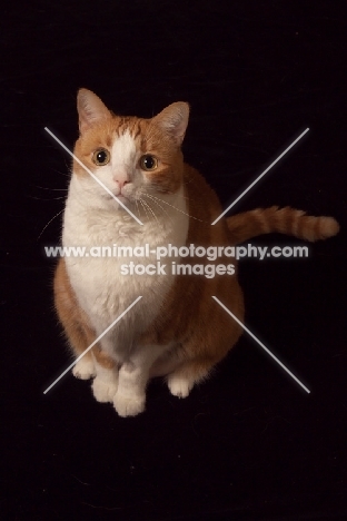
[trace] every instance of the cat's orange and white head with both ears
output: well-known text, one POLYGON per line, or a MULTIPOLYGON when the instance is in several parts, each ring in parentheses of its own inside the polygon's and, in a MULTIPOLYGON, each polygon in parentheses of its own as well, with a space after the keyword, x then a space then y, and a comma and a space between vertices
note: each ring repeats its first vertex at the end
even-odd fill
MULTIPOLYGON (((112 114, 93 92, 77 98, 80 137, 76 157, 126 206, 143 194, 174 194, 182 184, 181 142, 189 106, 176 102, 151 119, 112 114)), ((101 207, 115 199, 76 160, 73 175, 101 207)))

